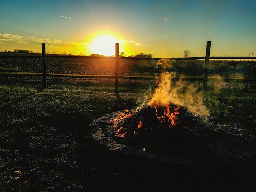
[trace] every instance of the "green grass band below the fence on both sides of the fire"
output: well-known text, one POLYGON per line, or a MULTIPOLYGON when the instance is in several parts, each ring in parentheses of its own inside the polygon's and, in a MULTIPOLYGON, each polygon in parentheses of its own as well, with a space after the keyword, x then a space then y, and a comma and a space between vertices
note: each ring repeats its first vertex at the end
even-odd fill
MULTIPOLYGON (((135 108, 145 102, 154 89, 152 81, 121 80, 120 102, 115 96, 113 79, 49 78, 47 89, 40 88, 40 78, 36 77, 6 80, 8 82, 0 85, 0 126, 4 132, 35 126, 46 114, 58 117, 79 113, 93 119, 108 112, 135 108)), ((188 92, 184 87, 191 84, 200 86, 200 83, 186 81, 180 92, 188 92)), ((215 83, 211 83, 212 89, 204 101, 210 113, 255 123, 255 84, 218 82, 217 85, 216 88, 215 83)))

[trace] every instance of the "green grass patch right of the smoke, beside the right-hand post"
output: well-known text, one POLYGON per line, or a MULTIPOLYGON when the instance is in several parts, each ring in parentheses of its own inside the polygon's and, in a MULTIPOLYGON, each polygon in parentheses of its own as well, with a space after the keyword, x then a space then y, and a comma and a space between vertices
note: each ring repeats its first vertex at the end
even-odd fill
POLYGON ((224 116, 234 121, 256 123, 256 93, 254 83, 225 83, 218 91, 207 95, 206 106, 211 114, 224 116))

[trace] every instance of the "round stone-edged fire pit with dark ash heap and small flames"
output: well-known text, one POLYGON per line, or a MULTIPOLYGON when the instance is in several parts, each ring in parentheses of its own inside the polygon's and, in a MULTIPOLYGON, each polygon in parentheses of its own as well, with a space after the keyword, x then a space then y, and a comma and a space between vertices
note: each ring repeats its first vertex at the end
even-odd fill
MULTIPOLYGON (((120 113, 107 114, 90 124, 90 136, 112 151, 168 163, 201 165, 230 165, 255 155, 255 138, 249 134, 241 136, 239 125, 214 116, 204 123, 180 107, 176 124, 170 125, 159 121, 155 109, 146 106, 116 126, 120 113), (224 134, 219 130, 223 126, 234 130, 224 134)), ((128 110, 124 114, 129 114, 128 110)))

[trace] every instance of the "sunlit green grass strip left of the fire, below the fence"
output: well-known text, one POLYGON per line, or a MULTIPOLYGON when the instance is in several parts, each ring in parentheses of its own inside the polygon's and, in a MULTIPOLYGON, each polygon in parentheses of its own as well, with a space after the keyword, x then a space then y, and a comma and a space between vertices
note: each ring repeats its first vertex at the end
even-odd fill
POLYGON ((15 127, 29 128, 39 123, 38 119, 45 114, 80 113, 86 116, 92 112, 92 116, 99 117, 110 111, 136 107, 137 100, 144 94, 141 92, 143 85, 136 86, 135 82, 128 88, 124 83, 120 86, 122 103, 119 103, 113 80, 90 79, 88 82, 52 78, 47 81, 47 89, 40 88, 39 78, 20 78, 19 83, 14 78, 8 81, 7 85, 0 85, 0 126, 6 131, 15 127))

